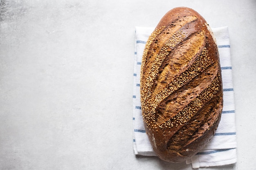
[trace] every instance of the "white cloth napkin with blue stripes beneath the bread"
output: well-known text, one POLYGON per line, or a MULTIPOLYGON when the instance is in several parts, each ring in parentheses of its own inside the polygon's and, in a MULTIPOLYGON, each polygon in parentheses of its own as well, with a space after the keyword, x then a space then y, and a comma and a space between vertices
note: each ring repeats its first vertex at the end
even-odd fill
MULTIPOLYGON (((133 73, 133 149, 135 155, 156 156, 144 128, 141 116, 139 77, 141 59, 146 41, 154 28, 135 28, 135 58, 133 73)), ((203 150, 187 160, 192 168, 222 166, 236 163, 236 127, 235 104, 232 82, 232 66, 228 27, 212 29, 220 53, 220 65, 223 81, 223 111, 216 134, 203 150)))

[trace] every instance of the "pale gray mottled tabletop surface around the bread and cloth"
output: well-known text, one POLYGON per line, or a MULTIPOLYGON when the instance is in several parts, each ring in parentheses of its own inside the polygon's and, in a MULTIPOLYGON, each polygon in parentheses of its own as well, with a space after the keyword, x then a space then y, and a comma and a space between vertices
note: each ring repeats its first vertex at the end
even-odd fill
POLYGON ((238 161, 202 169, 256 168, 256 0, 0 2, 0 170, 191 169, 132 149, 135 26, 179 6, 230 33, 238 161))

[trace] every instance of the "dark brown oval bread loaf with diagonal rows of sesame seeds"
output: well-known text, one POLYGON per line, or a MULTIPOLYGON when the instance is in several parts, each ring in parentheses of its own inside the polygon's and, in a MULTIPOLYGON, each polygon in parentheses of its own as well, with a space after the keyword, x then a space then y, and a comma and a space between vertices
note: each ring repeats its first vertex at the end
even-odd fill
POLYGON ((223 106, 219 53, 193 9, 168 11, 148 38, 140 93, 146 133, 160 159, 185 161, 211 140, 223 106))

